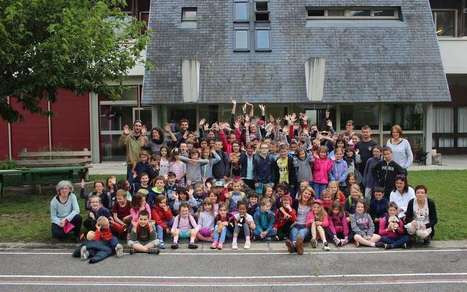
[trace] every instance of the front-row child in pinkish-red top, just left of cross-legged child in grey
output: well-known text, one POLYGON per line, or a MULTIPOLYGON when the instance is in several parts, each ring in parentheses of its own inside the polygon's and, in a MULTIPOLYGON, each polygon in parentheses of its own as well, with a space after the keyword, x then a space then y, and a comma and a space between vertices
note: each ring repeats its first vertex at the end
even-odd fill
POLYGON ((350 241, 349 222, 344 208, 342 208, 339 202, 334 202, 332 205, 329 226, 325 231, 328 239, 333 240, 337 247, 344 246, 350 241))

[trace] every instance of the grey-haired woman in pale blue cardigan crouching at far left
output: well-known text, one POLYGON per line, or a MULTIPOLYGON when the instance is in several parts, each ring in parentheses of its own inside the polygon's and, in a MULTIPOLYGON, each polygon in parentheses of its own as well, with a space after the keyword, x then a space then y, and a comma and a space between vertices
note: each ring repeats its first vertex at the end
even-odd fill
POLYGON ((82 219, 73 185, 67 180, 62 180, 55 189, 57 195, 50 201, 52 237, 64 240, 71 234, 75 240, 79 240, 82 219))

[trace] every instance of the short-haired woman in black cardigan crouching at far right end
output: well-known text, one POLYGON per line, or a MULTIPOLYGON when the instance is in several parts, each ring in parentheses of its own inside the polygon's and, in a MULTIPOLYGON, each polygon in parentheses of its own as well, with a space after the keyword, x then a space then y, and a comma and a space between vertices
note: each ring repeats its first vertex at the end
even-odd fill
POLYGON ((425 244, 429 244, 435 235, 435 225, 438 223, 435 202, 427 194, 424 185, 416 186, 415 198, 410 200, 405 213, 407 233, 422 239, 425 244))

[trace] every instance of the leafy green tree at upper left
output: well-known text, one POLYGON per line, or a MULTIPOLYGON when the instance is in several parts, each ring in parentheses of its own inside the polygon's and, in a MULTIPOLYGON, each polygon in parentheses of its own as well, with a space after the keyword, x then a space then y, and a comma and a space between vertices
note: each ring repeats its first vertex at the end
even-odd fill
POLYGON ((60 88, 116 96, 147 42, 144 23, 129 20, 124 0, 0 0, 0 116, 21 116, 7 103, 44 112, 60 88))

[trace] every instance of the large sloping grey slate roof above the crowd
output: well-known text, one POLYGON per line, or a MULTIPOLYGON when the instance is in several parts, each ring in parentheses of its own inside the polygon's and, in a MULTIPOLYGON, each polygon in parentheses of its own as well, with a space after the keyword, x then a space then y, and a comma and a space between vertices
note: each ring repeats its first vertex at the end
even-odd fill
POLYGON ((151 1, 144 104, 183 103, 184 59, 200 62, 199 103, 306 103, 311 57, 326 58, 323 103, 451 100, 428 0, 270 0, 272 51, 248 53, 233 52, 233 2, 151 1), (403 21, 306 25, 307 6, 399 6, 403 21), (197 7, 197 29, 180 27, 182 7, 197 7))

